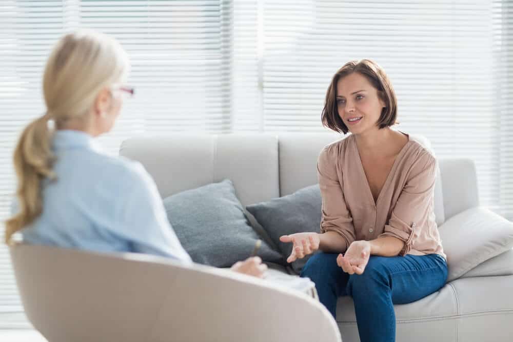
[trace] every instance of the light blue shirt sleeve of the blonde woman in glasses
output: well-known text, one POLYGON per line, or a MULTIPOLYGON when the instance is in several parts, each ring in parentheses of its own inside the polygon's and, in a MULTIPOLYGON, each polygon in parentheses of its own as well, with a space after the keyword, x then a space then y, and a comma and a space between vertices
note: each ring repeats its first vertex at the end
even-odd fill
POLYGON ((180 244, 164 209, 155 182, 140 164, 129 176, 131 191, 120 209, 120 227, 130 241, 133 251, 170 257, 192 264, 180 244))

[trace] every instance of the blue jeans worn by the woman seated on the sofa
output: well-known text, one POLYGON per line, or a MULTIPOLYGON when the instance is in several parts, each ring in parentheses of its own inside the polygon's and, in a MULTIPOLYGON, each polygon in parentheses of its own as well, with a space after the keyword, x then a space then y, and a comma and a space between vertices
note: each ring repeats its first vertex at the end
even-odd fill
POLYGON ((310 257, 302 277, 309 277, 319 300, 336 317, 337 298, 349 295, 361 342, 396 340, 393 304, 419 300, 445 285, 447 263, 438 254, 376 256, 369 258, 363 274, 347 274, 337 265, 338 254, 310 257))

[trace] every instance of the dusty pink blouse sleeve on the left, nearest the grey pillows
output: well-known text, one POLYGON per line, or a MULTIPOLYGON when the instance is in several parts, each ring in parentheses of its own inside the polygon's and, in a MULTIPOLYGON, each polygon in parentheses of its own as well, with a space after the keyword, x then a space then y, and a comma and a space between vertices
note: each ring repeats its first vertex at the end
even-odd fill
POLYGON ((333 231, 346 242, 346 248, 356 240, 351 214, 344 199, 342 179, 337 173, 338 153, 330 145, 319 155, 317 173, 322 197, 321 233, 333 231))

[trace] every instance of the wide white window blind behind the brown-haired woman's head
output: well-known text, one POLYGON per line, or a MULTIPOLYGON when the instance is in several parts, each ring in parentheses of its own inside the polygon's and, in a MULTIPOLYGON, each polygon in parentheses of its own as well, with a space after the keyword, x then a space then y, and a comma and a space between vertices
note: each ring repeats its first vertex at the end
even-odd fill
POLYGON ((266 1, 264 130, 322 130, 333 73, 371 58, 396 90, 397 128, 427 136, 439 157, 474 159, 482 203, 505 209, 494 18, 490 1, 266 1))

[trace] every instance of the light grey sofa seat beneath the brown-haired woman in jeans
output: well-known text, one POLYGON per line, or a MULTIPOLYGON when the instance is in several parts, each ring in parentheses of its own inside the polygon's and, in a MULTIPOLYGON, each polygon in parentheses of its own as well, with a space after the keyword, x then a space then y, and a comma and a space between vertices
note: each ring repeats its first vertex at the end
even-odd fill
MULTIPOLYGON (((457 279, 409 304, 394 305, 398 342, 509 341, 513 276, 457 279)), ((351 297, 340 297, 337 324, 344 341, 358 341, 351 297)))

